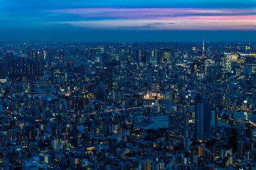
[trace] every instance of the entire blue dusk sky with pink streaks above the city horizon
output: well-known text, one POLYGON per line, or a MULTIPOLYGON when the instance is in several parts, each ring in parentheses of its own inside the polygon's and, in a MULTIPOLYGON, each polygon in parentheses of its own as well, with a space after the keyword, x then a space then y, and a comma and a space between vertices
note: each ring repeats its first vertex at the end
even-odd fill
POLYGON ((256 41, 255 0, 0 0, 0 41, 256 41))

